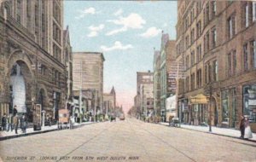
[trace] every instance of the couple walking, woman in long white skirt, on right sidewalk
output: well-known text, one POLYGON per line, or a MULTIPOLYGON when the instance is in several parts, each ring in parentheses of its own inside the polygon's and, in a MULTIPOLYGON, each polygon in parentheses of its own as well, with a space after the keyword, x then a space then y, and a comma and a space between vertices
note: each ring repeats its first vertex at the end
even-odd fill
POLYGON ((253 132, 249 125, 249 120, 247 116, 241 115, 240 130, 241 130, 240 138, 245 138, 245 139, 253 138, 253 132))

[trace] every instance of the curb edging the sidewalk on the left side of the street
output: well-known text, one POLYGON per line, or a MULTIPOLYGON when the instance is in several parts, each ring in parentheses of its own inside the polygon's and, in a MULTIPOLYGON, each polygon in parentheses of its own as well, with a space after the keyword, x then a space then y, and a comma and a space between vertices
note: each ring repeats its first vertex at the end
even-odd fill
MULTIPOLYGON (((96 124, 96 123, 97 122, 90 123, 90 124, 96 124)), ((76 125, 76 126, 73 126, 73 129, 80 128, 80 127, 82 127, 84 125, 89 125, 89 124, 76 125)), ((48 133, 48 132, 57 131, 57 130, 60 130, 60 129, 55 128, 55 129, 52 129, 52 130, 33 131, 33 132, 30 132, 30 133, 18 134, 18 135, 14 135, 14 136, 1 136, 0 137, 0 141, 9 140, 9 139, 13 139, 13 138, 18 138, 18 137, 22 137, 22 136, 38 135, 38 134, 48 133)), ((62 130, 69 130, 69 129, 62 129, 62 130)))

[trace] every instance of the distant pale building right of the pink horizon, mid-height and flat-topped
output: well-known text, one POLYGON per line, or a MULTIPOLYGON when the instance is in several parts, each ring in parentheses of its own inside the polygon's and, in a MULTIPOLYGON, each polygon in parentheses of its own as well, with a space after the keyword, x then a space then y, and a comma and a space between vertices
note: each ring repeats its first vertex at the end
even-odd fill
POLYGON ((154 113, 153 72, 137 72, 137 108, 141 118, 154 113))

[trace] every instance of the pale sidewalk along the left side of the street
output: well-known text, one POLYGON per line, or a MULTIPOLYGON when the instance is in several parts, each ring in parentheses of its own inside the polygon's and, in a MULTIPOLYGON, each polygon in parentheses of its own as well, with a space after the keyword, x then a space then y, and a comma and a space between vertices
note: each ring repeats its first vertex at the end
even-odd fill
MULTIPOLYGON (((95 124, 95 123, 97 123, 97 122, 84 122, 81 124, 75 123, 74 128, 80 127, 80 126, 83 126, 86 124, 95 124)), ((16 137, 20 137, 20 136, 36 135, 36 134, 46 133, 46 132, 55 131, 55 130, 58 130, 57 124, 51 125, 51 126, 44 126, 44 127, 42 127, 41 130, 36 130, 36 131, 34 131, 33 128, 28 128, 28 129, 26 129, 26 133, 22 133, 22 131, 19 129, 18 134, 15 134, 15 130, 13 130, 13 131, 10 131, 10 130, 5 131, 4 130, 4 131, 0 131, 0 141, 11 139, 11 138, 16 138, 16 137)), ((63 130, 65 130, 65 129, 63 129, 63 130)))

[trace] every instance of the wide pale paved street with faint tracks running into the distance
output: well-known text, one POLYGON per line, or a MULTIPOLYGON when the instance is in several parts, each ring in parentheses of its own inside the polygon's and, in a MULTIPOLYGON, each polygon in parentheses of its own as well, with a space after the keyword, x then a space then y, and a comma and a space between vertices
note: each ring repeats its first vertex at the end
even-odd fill
POLYGON ((127 119, 2 141, 0 157, 8 162, 255 162, 256 143, 127 119))

